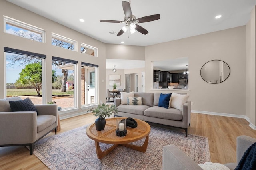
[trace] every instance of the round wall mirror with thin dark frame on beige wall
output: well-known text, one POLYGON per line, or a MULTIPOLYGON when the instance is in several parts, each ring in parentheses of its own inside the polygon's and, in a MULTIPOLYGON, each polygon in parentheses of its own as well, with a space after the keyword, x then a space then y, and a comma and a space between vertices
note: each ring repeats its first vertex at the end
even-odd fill
POLYGON ((216 84, 221 83, 228 78, 230 68, 224 61, 212 60, 203 65, 200 74, 202 79, 207 83, 216 84))

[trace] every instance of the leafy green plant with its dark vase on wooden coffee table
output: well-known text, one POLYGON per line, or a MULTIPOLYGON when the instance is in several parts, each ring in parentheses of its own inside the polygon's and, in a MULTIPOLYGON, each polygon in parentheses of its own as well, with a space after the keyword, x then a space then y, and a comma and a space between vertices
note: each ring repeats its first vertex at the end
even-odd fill
POLYGON ((90 108, 88 111, 92 111, 95 113, 93 114, 94 116, 98 116, 95 120, 95 127, 98 131, 104 130, 106 125, 106 116, 110 117, 113 113, 117 113, 115 105, 105 105, 104 103, 99 104, 96 108, 90 108))

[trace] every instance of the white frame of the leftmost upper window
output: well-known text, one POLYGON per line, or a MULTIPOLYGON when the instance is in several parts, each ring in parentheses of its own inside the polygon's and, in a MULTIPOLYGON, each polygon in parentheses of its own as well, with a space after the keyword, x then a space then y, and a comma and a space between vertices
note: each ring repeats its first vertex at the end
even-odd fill
MULTIPOLYGON (((10 18, 8 16, 4 16, 4 32, 7 34, 10 34, 10 33, 6 32, 6 24, 10 24, 12 26, 16 26, 21 29, 26 29, 28 31, 35 32, 37 34, 41 34, 42 43, 46 43, 46 30, 44 30, 42 28, 33 26, 31 24, 27 24, 27 23, 19 21, 19 20, 15 20, 14 18, 10 18)), ((18 36, 15 34, 11 34, 11 35, 18 36)), ((18 37, 21 37, 21 36, 18 36, 18 37)), ((23 37, 23 38, 26 38, 26 37, 23 37)), ((26 38, 26 39, 29 39, 29 38, 26 38)), ((32 40, 32 39, 29 39, 29 40, 32 40)), ((36 40, 34 40, 34 41, 36 41, 36 40)), ((36 42, 40 42, 40 41, 36 41, 36 42)))

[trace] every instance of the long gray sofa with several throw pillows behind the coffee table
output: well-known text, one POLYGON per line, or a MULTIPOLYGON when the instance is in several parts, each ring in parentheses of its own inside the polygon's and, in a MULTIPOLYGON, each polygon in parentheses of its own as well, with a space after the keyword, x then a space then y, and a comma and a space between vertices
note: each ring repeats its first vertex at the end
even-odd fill
POLYGON ((159 123, 171 127, 185 130, 188 136, 188 126, 190 126, 191 102, 187 101, 183 105, 183 111, 174 108, 164 108, 158 106, 161 93, 134 93, 134 97, 142 97, 142 105, 121 105, 121 98, 114 99, 114 105, 118 109, 115 117, 132 117, 143 121, 159 123))

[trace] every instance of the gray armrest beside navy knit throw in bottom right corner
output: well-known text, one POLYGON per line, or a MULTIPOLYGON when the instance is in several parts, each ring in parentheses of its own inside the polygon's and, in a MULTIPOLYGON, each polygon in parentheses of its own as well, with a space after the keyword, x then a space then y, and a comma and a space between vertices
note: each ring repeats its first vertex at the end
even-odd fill
POLYGON ((244 152, 256 142, 255 138, 250 136, 237 136, 236 138, 236 162, 238 163, 244 155, 244 152))

